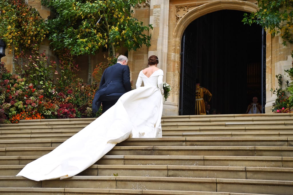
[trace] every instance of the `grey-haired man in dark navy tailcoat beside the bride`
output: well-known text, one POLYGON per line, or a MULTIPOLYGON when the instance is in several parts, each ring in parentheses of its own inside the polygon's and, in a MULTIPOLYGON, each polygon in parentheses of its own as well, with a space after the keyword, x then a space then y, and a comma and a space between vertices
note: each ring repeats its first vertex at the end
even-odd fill
POLYGON ((98 112, 102 104, 102 113, 112 107, 119 97, 131 90, 128 59, 124 55, 117 58, 117 63, 105 69, 100 87, 93 99, 93 113, 98 112))

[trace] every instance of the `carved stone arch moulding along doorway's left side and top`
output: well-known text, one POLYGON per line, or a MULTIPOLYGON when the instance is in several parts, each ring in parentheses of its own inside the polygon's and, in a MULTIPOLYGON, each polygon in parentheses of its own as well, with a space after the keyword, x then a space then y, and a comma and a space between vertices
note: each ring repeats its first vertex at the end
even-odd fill
MULTIPOLYGON (((208 13, 212 13, 214 11, 219 10, 238 10, 238 11, 245 11, 245 12, 252 12, 257 11, 258 7, 256 4, 253 4, 248 1, 212 1, 207 2, 205 4, 193 4, 193 5, 186 5, 183 6, 182 4, 179 6, 176 6, 175 13, 178 13, 178 11, 181 11, 181 15, 177 14, 176 18, 176 25, 174 27, 174 31, 172 34, 172 37, 169 37, 169 40, 171 38, 173 51, 171 52, 172 55, 172 69, 175 71, 172 74, 174 78, 172 78, 173 81, 177 81, 175 86, 178 86, 177 91, 174 94, 173 91, 173 99, 180 102, 179 98, 179 90, 180 90, 180 52, 181 52, 181 38, 183 36, 183 33, 187 26, 193 22, 195 19, 199 18, 202 15, 206 15, 208 13)), ((179 108, 179 105, 178 105, 179 108)))

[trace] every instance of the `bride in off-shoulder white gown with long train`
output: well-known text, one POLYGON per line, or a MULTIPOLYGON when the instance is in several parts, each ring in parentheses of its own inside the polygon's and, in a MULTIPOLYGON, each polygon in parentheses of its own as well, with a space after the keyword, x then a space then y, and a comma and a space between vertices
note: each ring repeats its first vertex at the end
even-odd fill
POLYGON ((139 72, 136 89, 52 152, 28 163, 16 176, 31 180, 64 179, 93 165, 129 137, 162 137, 163 71, 158 57, 139 72), (141 87, 142 82, 144 86, 141 87))

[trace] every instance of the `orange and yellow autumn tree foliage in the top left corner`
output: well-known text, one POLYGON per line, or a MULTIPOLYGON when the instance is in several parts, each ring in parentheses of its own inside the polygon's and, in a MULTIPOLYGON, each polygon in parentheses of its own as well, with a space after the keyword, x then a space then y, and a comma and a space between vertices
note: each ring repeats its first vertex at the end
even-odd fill
POLYGON ((16 54, 39 45, 47 33, 39 12, 25 0, 2 0, 0 18, 0 39, 16 54))

